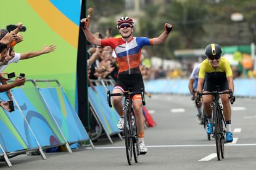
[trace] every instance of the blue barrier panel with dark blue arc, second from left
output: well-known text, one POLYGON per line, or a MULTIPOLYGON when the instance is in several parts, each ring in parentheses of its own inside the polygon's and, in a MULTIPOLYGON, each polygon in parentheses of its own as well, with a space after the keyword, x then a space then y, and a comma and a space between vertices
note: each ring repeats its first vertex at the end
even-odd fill
POLYGON ((65 144, 64 137, 41 101, 36 88, 15 88, 12 94, 41 147, 65 144))

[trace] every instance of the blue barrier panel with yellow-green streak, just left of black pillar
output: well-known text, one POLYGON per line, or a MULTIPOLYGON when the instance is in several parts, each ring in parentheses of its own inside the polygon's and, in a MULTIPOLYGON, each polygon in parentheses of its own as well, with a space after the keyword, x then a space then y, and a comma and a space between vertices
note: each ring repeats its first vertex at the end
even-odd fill
POLYGON ((49 110, 68 143, 89 140, 89 136, 62 88, 39 88, 49 110))

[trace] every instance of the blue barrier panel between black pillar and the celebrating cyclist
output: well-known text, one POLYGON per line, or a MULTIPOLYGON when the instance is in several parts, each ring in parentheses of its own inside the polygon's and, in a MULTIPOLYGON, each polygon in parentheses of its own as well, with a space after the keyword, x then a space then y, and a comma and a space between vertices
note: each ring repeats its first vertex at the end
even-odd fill
POLYGON ((102 125, 107 131, 106 133, 110 135, 118 133, 119 130, 117 128, 117 124, 115 124, 112 118, 112 110, 107 104, 107 96, 102 96, 102 93, 100 93, 101 89, 99 87, 95 88, 98 91, 97 93, 93 91, 91 87, 88 88, 89 102, 91 102, 91 105, 101 120, 102 125))

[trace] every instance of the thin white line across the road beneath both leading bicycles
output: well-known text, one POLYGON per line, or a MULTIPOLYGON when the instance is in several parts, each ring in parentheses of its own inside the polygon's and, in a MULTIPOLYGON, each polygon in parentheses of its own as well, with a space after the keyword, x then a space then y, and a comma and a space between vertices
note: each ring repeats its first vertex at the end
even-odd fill
MULTIPOLYGON (((230 146, 256 146, 256 144, 232 144, 226 145, 227 147, 230 146)), ((147 145, 147 148, 159 148, 159 147, 216 147, 215 144, 208 144, 208 145, 147 145)), ((124 149, 125 146, 122 147, 95 147, 95 149, 124 149)), ((91 149, 91 148, 86 148, 91 149)))

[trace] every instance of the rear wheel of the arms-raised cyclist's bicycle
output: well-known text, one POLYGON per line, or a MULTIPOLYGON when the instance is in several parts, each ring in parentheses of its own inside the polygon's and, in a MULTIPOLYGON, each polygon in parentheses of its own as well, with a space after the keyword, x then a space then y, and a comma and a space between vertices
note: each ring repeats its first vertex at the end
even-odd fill
POLYGON ((133 126, 133 156, 134 156, 134 161, 138 163, 139 159, 139 141, 138 141, 138 129, 136 125, 136 117, 133 116, 132 118, 132 123, 131 125, 133 126))

